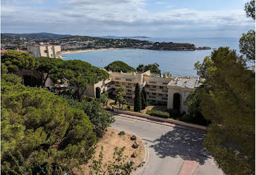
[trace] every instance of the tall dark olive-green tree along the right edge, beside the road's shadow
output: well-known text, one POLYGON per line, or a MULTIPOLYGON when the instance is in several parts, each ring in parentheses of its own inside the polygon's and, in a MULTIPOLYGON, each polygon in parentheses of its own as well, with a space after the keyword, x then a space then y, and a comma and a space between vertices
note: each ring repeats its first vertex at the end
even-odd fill
POLYGON ((197 64, 209 87, 199 90, 201 112, 212 123, 205 147, 226 174, 255 172, 255 74, 228 47, 197 64), (210 63, 210 64, 208 64, 210 63), (208 65, 205 69, 205 66, 208 65), (236 164, 236 166, 234 166, 236 164))

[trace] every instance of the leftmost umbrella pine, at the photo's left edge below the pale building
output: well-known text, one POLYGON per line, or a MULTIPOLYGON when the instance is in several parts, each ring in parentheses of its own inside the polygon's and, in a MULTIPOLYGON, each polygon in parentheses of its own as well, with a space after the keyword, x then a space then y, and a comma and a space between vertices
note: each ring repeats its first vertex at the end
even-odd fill
POLYGON ((19 51, 6 51, 3 56, 1 56, 1 63, 7 66, 9 73, 20 76, 22 78, 22 84, 24 84, 24 70, 34 70, 38 68, 38 61, 36 61, 35 57, 19 51))

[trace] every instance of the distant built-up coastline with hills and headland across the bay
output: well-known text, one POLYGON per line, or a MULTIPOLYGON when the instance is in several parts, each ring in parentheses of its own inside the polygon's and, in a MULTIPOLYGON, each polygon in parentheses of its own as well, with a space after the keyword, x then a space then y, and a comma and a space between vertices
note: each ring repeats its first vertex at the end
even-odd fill
POLYGON ((26 50, 29 45, 61 45, 62 51, 82 51, 86 49, 150 49, 162 51, 195 51, 211 49, 195 47, 193 43, 152 42, 146 36, 71 36, 46 32, 31 34, 1 34, 1 49, 26 50))

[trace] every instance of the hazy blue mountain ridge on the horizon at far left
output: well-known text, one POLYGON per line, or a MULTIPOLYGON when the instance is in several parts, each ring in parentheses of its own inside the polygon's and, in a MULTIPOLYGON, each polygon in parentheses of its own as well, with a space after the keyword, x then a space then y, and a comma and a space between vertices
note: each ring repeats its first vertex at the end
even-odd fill
POLYGON ((20 37, 26 37, 26 39, 59 39, 61 37, 69 37, 71 35, 60 35, 60 34, 51 34, 47 32, 41 33, 31 33, 31 34, 1 34, 1 38, 15 38, 20 39, 20 37))

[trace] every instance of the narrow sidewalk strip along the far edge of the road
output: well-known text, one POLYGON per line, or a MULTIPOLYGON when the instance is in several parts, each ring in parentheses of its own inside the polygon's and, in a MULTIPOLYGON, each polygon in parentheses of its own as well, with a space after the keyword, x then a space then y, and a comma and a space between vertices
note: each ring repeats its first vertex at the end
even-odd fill
POLYGON ((172 123, 169 123, 169 122, 163 122, 163 121, 160 121, 160 120, 154 120, 154 119, 150 119, 150 118, 143 118, 141 116, 133 116, 133 115, 129 115, 129 114, 120 114, 120 113, 117 113, 117 112, 112 112, 112 113, 117 114, 119 116, 124 116, 124 117, 127 117, 127 118, 133 118, 133 119, 136 119, 136 120, 143 120, 143 121, 146 121, 146 122, 153 122, 153 123, 156 123, 156 124, 162 124, 162 125, 166 125, 166 126, 172 126, 172 127, 175 127, 175 128, 181 128, 183 130, 190 130, 190 131, 193 131, 193 132, 200 132, 200 133, 206 134, 205 130, 201 130, 201 129, 197 129, 197 128, 191 128, 191 127, 182 126, 182 125, 179 125, 179 124, 172 124, 172 123))

